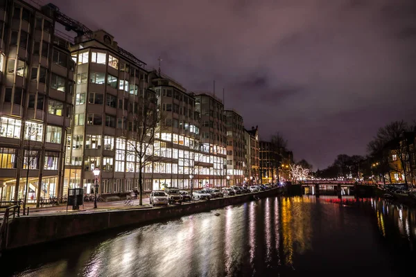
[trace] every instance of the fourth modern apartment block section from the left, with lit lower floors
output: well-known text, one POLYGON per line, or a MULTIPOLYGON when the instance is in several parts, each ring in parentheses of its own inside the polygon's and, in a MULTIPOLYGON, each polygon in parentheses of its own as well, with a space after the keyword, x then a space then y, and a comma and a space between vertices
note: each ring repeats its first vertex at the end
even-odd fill
POLYGON ((223 102, 207 92, 196 93, 194 97, 201 132, 196 184, 199 187, 226 186, 227 133, 223 102))

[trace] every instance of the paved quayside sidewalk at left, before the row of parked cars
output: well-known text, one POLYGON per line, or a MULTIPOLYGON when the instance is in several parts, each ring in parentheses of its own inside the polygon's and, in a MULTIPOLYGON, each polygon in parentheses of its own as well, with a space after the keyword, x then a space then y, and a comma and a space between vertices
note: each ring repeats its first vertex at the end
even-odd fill
MULTIPOLYGON (((149 199, 143 199, 143 206, 139 206, 139 199, 134 199, 133 205, 124 206, 124 200, 114 202, 97 202, 97 208, 94 208, 94 202, 86 202, 83 206, 80 206, 79 211, 72 211, 72 206, 66 204, 60 204, 59 206, 44 206, 35 208, 33 205, 29 205, 29 216, 36 215, 51 215, 55 213, 91 213, 98 211, 110 211, 110 210, 124 210, 129 208, 151 208, 149 199), (68 208, 68 211, 67 211, 68 208)), ((23 215, 21 210, 20 215, 23 215)))

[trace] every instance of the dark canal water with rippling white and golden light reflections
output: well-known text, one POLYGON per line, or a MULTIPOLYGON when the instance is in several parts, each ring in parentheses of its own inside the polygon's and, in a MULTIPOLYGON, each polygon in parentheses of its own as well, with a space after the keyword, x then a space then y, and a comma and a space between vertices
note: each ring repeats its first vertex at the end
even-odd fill
POLYGON ((376 198, 269 197, 19 249, 0 258, 0 270, 1 276, 413 276, 415 246, 415 209, 376 198))

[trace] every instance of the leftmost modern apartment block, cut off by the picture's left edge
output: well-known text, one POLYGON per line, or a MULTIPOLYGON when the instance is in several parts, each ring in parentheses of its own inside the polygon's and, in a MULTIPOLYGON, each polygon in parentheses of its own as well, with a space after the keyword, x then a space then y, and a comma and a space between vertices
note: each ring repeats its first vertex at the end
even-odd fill
MULTIPOLYGON (((46 9, 47 11, 47 9, 46 9)), ((55 19, 0 1, 0 198, 59 195, 75 66, 55 19)))

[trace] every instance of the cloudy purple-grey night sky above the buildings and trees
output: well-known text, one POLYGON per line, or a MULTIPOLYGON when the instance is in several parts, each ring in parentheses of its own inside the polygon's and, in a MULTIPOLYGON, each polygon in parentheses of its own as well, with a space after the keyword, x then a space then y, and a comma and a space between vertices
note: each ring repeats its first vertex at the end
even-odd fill
POLYGON ((53 0, 189 91, 212 91, 260 139, 325 168, 415 120, 415 0, 53 0))

